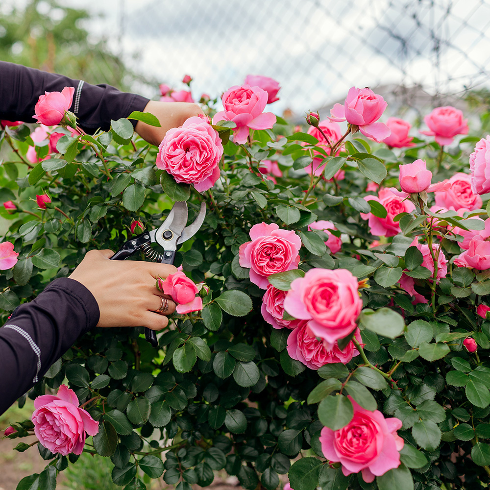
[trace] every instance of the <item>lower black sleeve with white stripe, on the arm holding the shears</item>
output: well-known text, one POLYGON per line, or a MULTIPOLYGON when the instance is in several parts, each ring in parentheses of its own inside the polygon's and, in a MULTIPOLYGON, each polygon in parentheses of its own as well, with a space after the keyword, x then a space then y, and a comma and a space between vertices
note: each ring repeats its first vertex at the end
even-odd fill
POLYGON ((98 319, 92 293, 67 277, 19 306, 0 328, 0 415, 98 319))

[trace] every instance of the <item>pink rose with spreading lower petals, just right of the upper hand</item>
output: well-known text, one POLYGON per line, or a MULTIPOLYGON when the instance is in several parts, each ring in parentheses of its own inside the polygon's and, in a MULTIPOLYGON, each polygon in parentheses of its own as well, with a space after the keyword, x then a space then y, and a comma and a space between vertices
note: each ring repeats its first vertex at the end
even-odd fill
POLYGON ((233 121, 233 141, 237 145, 246 142, 250 129, 270 129, 276 122, 271 112, 263 112, 268 101, 268 93, 260 87, 234 85, 222 97, 224 111, 218 112, 213 124, 219 121, 233 121))

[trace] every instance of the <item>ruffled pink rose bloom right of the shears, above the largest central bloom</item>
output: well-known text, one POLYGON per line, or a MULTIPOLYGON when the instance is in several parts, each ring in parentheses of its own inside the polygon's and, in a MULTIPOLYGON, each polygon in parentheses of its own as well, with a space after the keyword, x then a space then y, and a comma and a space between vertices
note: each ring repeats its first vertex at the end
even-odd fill
POLYGON ((250 228, 250 238, 240 245, 239 261, 250 268, 250 281, 259 288, 267 289, 270 274, 298 268, 301 239, 294 231, 262 221, 250 228))

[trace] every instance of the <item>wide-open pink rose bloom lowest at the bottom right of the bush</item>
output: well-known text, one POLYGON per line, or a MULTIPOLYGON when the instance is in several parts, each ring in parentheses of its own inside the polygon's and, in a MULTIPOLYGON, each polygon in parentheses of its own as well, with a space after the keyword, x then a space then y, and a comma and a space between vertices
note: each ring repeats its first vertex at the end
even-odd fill
POLYGON ((321 429, 321 452, 332 463, 340 462, 345 476, 362 471, 365 482, 400 466, 404 441, 396 431, 402 422, 396 417, 385 418, 379 410, 370 412, 348 397, 354 417, 342 429, 321 429))

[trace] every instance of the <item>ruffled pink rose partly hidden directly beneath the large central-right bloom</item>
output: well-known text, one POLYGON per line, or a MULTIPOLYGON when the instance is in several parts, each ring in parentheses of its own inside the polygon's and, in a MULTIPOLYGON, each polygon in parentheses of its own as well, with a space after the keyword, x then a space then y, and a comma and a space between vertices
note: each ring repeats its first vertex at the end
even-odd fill
MULTIPOLYGON (((356 333, 356 339, 361 342, 361 336, 356 333)), ((288 353, 292 359, 300 361, 307 368, 318 369, 325 364, 347 364, 353 357, 359 355, 354 343, 350 341, 343 349, 335 342, 326 344, 319 342, 308 325, 295 328, 288 337, 288 353)))

